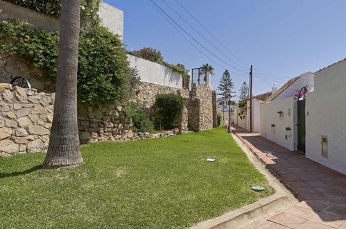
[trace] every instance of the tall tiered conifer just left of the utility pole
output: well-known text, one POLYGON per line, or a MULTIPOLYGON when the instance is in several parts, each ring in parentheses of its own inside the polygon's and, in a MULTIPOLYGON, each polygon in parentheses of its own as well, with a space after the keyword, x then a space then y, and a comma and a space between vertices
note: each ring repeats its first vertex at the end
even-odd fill
POLYGON ((218 85, 218 90, 220 91, 219 95, 222 96, 222 99, 228 99, 228 132, 231 132, 231 104, 234 101, 231 99, 234 97, 234 84, 232 82, 230 71, 227 69, 223 72, 223 76, 220 79, 220 84, 218 85))

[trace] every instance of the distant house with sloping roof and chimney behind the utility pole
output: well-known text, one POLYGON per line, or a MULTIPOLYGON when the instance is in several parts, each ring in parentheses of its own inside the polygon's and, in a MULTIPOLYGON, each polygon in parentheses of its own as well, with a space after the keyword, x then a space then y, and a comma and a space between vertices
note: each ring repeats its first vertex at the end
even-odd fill
POLYGON ((259 104, 266 101, 276 90, 277 88, 273 87, 272 92, 252 96, 252 130, 250 129, 250 99, 239 101, 233 105, 234 117, 232 119, 234 124, 254 133, 259 132, 259 104))

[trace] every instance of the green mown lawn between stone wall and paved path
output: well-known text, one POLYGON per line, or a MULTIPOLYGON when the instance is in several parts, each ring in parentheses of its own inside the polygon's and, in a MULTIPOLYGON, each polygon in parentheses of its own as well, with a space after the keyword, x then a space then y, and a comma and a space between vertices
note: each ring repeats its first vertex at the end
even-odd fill
POLYGON ((223 128, 81 151, 72 169, 0 158, 0 228, 186 228, 273 194, 223 128))

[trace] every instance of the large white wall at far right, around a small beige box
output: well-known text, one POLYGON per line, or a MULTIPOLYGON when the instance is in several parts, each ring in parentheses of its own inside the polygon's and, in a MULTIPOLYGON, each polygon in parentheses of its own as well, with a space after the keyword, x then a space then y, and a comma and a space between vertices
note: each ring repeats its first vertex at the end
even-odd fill
POLYGON ((315 73, 315 90, 306 95, 306 157, 346 174, 346 60, 315 73))

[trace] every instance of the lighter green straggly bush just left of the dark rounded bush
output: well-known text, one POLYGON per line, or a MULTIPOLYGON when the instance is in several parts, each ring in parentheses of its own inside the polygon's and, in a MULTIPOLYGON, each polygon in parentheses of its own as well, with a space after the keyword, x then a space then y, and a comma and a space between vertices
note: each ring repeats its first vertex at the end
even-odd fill
POLYGON ((126 124, 132 123, 132 130, 135 133, 150 132, 153 130, 153 122, 150 121, 148 114, 139 103, 131 102, 123 110, 123 121, 126 124))

